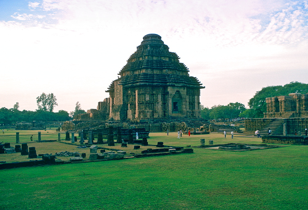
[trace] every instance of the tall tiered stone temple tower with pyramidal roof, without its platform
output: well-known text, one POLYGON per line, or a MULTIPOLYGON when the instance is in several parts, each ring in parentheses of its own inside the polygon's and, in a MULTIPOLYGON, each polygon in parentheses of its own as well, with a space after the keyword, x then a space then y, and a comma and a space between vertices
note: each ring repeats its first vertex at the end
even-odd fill
POLYGON ((189 76, 179 59, 159 35, 145 35, 106 91, 109 118, 200 117, 200 89, 204 87, 189 76))

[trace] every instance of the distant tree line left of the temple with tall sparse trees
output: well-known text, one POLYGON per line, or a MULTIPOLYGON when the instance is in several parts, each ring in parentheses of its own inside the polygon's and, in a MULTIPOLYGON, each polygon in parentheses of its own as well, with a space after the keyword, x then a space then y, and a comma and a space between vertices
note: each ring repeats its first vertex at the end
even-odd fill
POLYGON ((0 124, 13 124, 16 122, 32 122, 32 121, 67 121, 72 120, 74 115, 86 113, 81 109, 80 103, 77 101, 75 110, 68 113, 65 110, 53 112, 55 106, 58 106, 57 99, 53 93, 42 93, 36 98, 38 109, 35 111, 19 111, 19 103, 16 102, 13 108, 0 108, 0 124))

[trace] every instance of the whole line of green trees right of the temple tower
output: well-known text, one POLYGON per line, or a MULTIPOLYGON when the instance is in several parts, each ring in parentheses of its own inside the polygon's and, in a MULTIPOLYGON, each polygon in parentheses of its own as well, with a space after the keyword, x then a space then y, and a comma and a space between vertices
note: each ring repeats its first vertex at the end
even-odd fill
POLYGON ((290 82, 284 86, 263 87, 248 102, 249 109, 244 104, 229 103, 226 106, 215 105, 211 108, 201 105, 201 117, 205 119, 232 119, 232 118, 263 118, 263 112, 266 112, 265 98, 288 95, 289 93, 308 93, 308 84, 301 82, 290 82))

